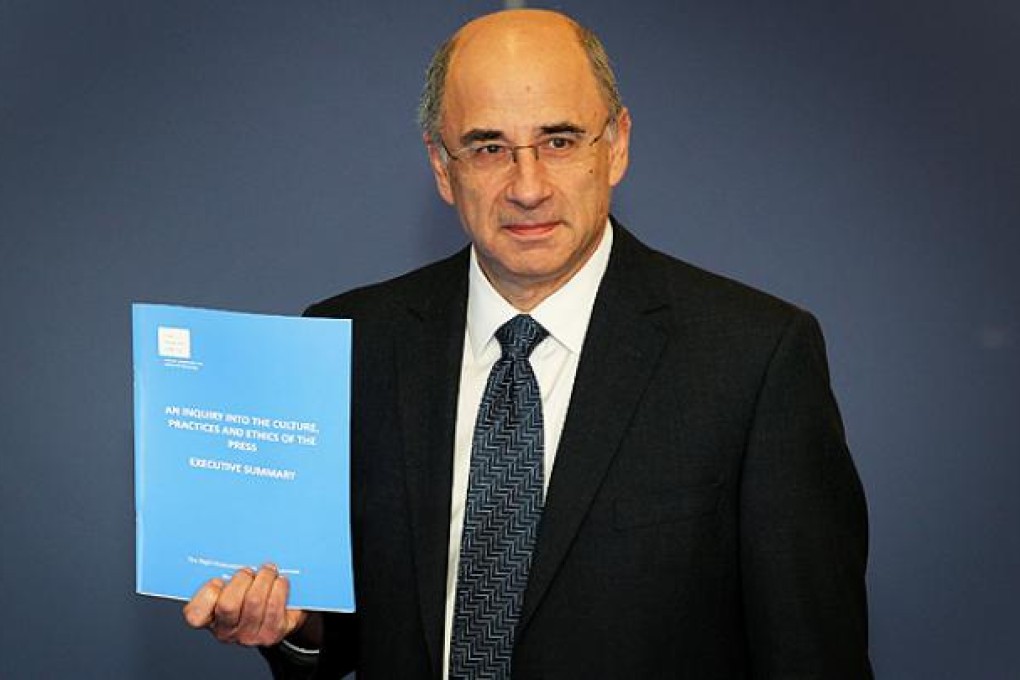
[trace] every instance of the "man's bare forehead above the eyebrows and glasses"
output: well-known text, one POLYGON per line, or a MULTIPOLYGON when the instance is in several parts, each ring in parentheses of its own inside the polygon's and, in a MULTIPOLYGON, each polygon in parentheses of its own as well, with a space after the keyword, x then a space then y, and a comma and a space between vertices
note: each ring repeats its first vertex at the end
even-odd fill
POLYGON ((569 23, 469 24, 458 35, 444 126, 524 132, 552 122, 591 123, 604 108, 569 23))

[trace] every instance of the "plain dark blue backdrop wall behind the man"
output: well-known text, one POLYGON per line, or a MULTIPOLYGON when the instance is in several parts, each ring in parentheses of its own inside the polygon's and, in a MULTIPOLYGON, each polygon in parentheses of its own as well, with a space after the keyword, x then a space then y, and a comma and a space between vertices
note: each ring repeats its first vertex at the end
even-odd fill
MULTIPOLYGON (((497 6, 0 2, 0 676, 265 677, 133 594, 130 303, 297 313, 457 248, 414 104, 497 6)), ((825 327, 878 675, 1020 677, 1016 3, 557 6, 633 114, 617 215, 825 327)))

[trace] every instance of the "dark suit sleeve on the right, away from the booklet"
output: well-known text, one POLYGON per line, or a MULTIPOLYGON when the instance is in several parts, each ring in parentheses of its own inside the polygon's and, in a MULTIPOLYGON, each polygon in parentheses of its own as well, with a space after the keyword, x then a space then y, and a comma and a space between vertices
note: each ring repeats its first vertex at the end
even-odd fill
POLYGON ((741 480, 754 678, 872 677, 867 509, 815 319, 798 312, 761 384, 741 480))

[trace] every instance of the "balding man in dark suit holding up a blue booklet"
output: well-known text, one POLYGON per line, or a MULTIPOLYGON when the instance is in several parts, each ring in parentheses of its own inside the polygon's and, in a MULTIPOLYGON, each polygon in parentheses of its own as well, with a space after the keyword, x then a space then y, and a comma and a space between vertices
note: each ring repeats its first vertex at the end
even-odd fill
POLYGON ((265 566, 188 622, 279 677, 871 677, 817 324, 611 220, 630 117, 595 37, 471 21, 421 109, 470 252, 309 310, 355 320, 358 612, 286 610, 265 566))

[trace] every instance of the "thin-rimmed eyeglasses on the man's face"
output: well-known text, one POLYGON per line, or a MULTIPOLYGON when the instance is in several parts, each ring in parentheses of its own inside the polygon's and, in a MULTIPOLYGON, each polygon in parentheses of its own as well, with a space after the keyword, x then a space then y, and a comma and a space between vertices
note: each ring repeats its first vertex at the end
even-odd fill
POLYGON ((584 144, 588 135, 581 130, 563 129, 543 135, 534 144, 512 145, 503 140, 478 140, 468 144, 456 153, 447 148, 440 138, 440 145, 451 160, 464 163, 477 172, 497 172, 505 170, 517 162, 517 152, 530 149, 536 161, 542 161, 549 167, 566 166, 584 157, 585 151, 599 143, 609 129, 612 117, 606 119, 602 132, 584 144))

